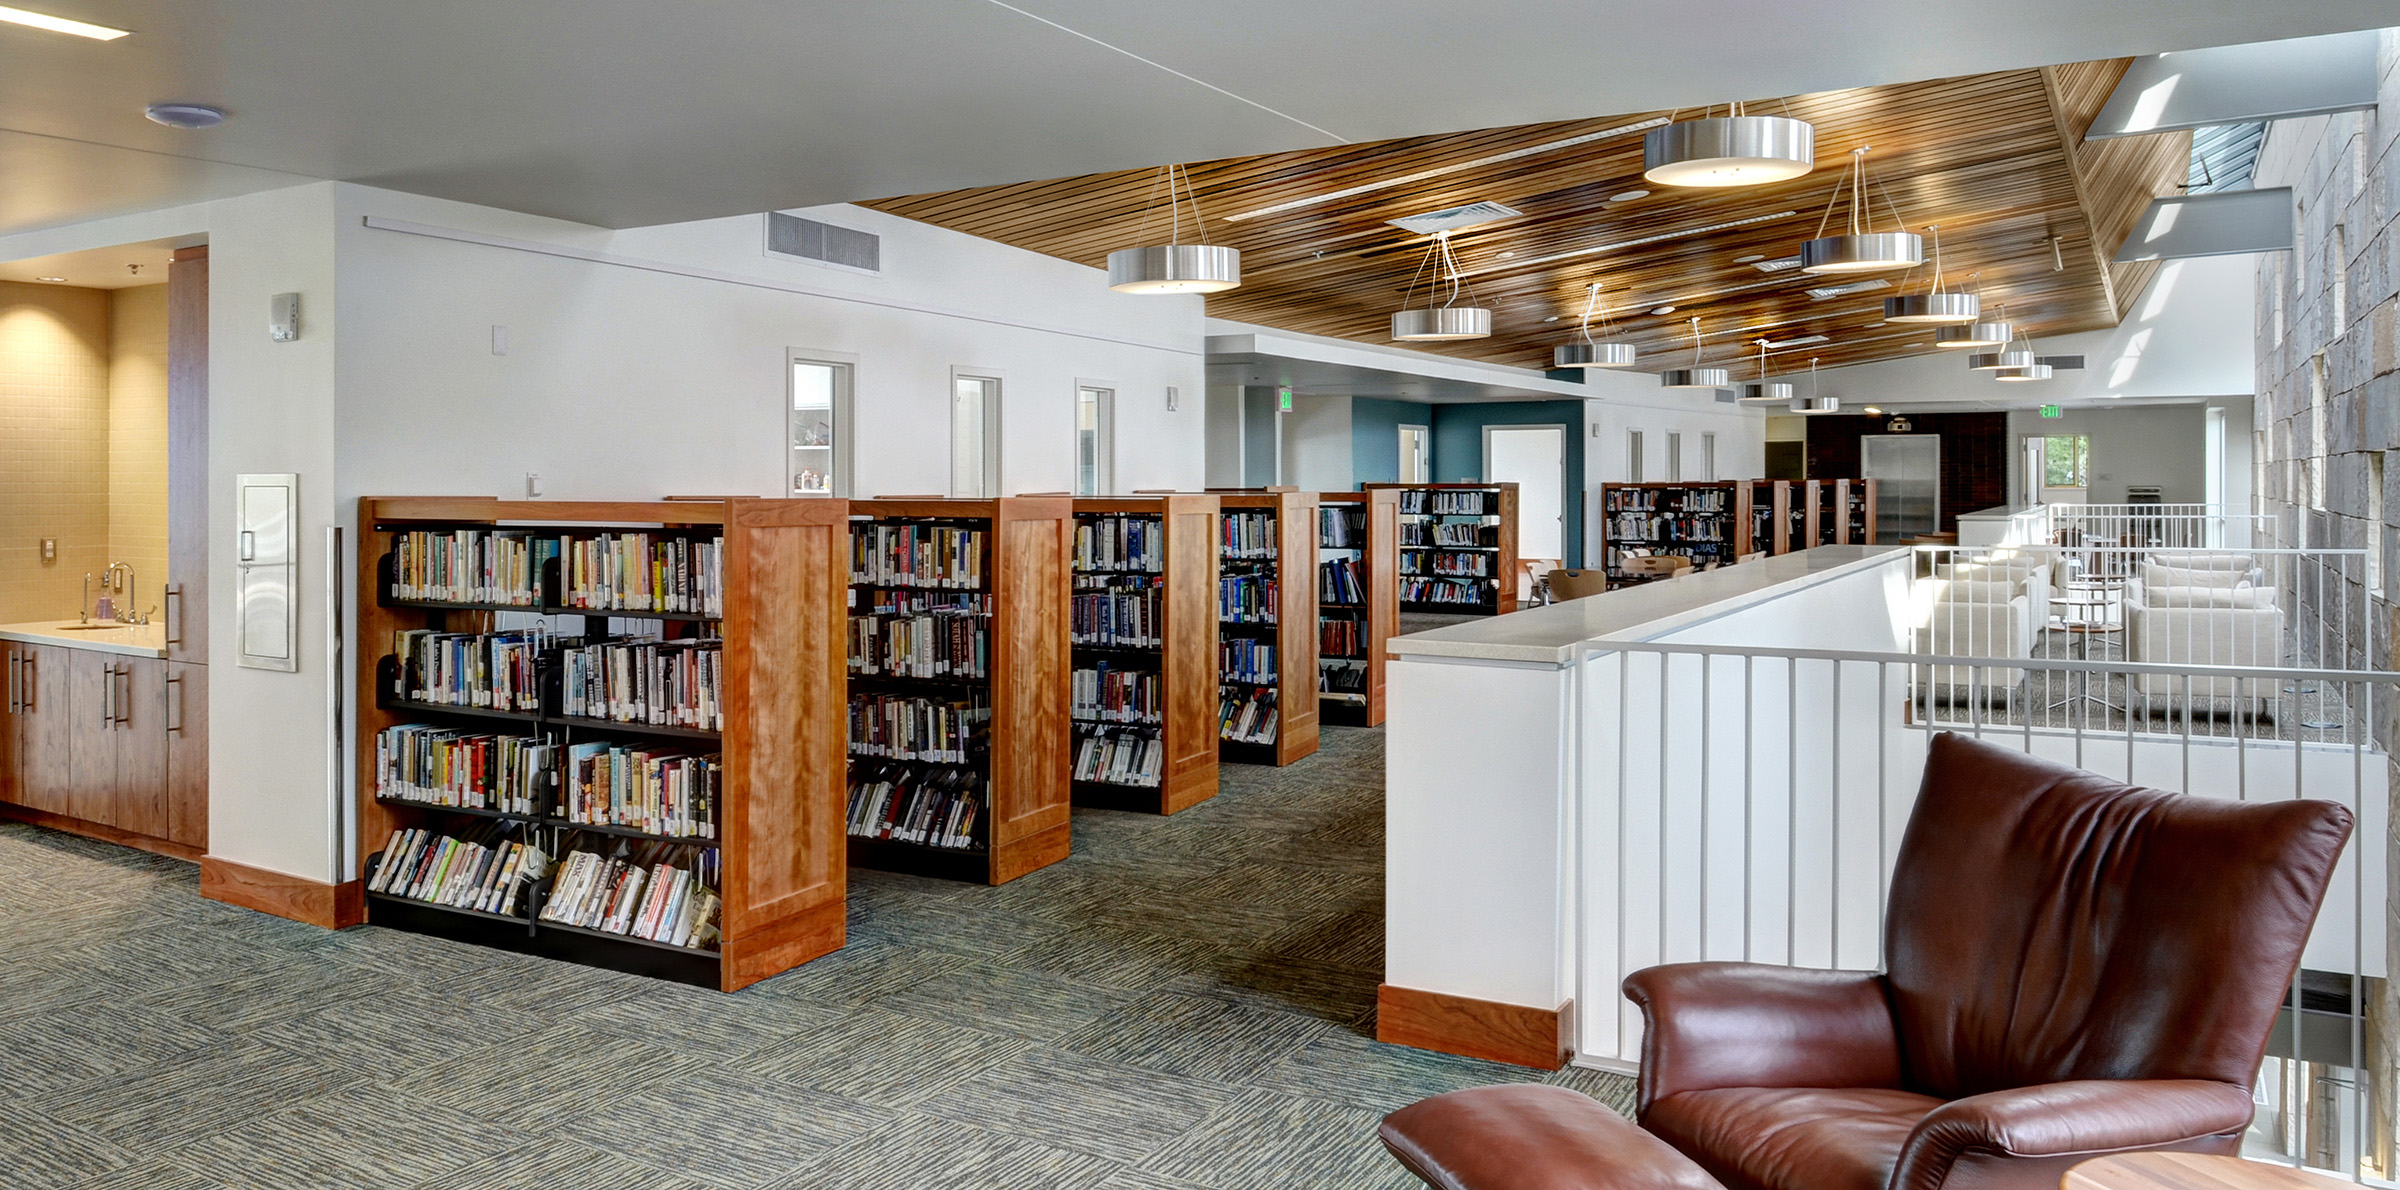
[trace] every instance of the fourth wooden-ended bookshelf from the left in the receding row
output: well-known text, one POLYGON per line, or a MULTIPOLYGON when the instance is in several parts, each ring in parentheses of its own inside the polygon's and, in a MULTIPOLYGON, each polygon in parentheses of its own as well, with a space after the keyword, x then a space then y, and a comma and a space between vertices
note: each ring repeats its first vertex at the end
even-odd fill
POLYGON ((1318 497, 1217 497, 1217 756, 1289 765, 1318 751, 1318 497))

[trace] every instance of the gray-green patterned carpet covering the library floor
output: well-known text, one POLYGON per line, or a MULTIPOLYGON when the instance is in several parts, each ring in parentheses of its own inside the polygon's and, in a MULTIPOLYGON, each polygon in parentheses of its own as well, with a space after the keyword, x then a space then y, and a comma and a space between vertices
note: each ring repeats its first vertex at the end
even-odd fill
POLYGON ((1385 1111, 1541 1075, 1373 1041, 1382 732, 1224 773, 1176 818, 1078 813, 1006 888, 852 873, 850 945, 739 996, 326 933, 0 825, 0 1183, 1416 1185, 1385 1111))

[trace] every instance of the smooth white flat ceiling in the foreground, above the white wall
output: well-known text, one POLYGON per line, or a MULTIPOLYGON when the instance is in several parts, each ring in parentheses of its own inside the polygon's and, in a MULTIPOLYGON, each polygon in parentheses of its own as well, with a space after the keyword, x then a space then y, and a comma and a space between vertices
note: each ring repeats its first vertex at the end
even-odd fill
POLYGON ((2393 22, 2388 0, 17 0, 0 233, 338 178, 600 226, 2393 22), (233 120, 178 132, 158 101, 233 120))

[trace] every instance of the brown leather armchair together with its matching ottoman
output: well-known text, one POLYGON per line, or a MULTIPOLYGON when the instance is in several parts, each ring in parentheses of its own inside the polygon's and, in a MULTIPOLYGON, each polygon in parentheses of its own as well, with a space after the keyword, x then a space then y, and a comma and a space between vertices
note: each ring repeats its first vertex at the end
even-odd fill
POLYGON ((1555 1087, 1426 1099, 1382 1140, 1459 1190, 2054 1190, 2110 1152, 2232 1154, 2347 837, 2333 801, 2162 794, 1942 734, 1889 972, 1625 981, 1637 1118, 1699 1168, 1555 1087))

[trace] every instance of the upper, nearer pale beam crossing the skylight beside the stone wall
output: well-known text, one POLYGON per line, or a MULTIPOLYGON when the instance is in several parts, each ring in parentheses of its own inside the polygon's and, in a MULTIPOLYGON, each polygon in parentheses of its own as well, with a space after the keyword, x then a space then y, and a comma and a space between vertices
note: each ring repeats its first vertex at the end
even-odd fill
POLYGON ((2326 34, 2136 58, 2086 139, 2369 110, 2381 34, 2326 34))

